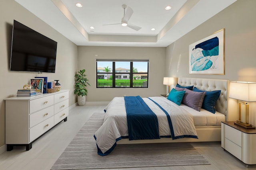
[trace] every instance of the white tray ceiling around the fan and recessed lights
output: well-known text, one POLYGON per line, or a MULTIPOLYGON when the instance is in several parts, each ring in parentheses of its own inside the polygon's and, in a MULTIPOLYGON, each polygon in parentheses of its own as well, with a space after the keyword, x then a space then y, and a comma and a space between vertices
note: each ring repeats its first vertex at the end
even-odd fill
POLYGON ((76 45, 167 47, 236 0, 15 1, 76 45), (78 8, 77 2, 83 7, 78 8), (139 31, 104 25, 121 22, 122 4, 134 11, 128 23, 142 27, 139 31), (165 10, 166 6, 172 8, 165 10))

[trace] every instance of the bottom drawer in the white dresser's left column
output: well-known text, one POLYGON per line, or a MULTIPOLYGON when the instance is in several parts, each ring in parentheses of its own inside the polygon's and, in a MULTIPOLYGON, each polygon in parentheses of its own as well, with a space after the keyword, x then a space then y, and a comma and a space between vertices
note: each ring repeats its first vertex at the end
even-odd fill
POLYGON ((29 129, 29 142, 34 141, 54 126, 54 116, 29 129))

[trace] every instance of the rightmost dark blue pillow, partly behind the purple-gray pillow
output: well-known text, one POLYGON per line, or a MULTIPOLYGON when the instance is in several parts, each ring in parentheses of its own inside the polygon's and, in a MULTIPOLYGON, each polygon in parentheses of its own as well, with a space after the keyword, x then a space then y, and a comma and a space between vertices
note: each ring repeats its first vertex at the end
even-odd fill
POLYGON ((220 92, 221 90, 215 90, 215 91, 204 91, 204 90, 199 90, 198 88, 194 87, 193 91, 195 92, 206 92, 204 96, 204 102, 202 104, 202 108, 206 109, 212 113, 215 113, 215 105, 220 97, 220 92))

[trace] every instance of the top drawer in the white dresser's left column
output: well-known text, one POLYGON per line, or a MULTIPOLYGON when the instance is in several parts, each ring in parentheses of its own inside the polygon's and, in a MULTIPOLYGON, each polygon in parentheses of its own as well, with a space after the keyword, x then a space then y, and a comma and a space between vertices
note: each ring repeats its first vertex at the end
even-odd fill
POLYGON ((35 111, 44 109, 51 105, 54 105, 54 95, 45 96, 35 100, 30 100, 29 113, 34 113, 35 111))

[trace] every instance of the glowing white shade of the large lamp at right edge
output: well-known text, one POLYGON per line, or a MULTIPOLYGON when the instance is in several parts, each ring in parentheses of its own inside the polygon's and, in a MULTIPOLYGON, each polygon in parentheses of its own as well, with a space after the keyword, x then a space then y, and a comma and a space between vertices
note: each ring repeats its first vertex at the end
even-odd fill
POLYGON ((229 97, 246 102, 256 102, 256 83, 230 82, 229 97))

